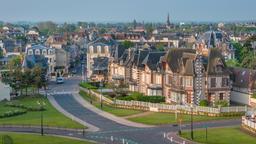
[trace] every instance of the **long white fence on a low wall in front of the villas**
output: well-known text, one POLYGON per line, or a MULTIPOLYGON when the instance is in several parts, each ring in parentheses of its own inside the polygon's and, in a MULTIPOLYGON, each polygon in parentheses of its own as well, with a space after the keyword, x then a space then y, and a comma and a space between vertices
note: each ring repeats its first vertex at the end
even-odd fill
MULTIPOLYGON (((80 88, 80 90, 89 92, 85 88, 80 88)), ((171 105, 171 104, 160 104, 160 103, 149 103, 142 101, 124 101, 124 100, 111 100, 101 94, 90 90, 90 93, 96 96, 98 99, 102 97, 102 100, 107 104, 115 105, 121 108, 131 108, 155 112, 178 112, 178 113, 193 113, 198 115, 225 115, 225 114, 241 114, 246 112, 249 108, 247 106, 231 106, 231 107, 202 107, 202 106, 188 106, 188 105, 171 105)), ((253 109, 250 109, 253 110, 253 109)))

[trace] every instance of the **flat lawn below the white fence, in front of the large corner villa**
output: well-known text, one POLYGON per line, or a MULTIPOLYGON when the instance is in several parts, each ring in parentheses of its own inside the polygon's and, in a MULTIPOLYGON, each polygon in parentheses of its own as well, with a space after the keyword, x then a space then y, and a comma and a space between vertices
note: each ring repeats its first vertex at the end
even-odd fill
MULTIPOLYGON (((190 122, 190 115, 178 114, 177 119, 181 117, 182 123, 190 122)), ((223 120, 231 119, 235 117, 209 117, 209 116, 193 116, 194 121, 208 121, 208 120, 223 120)), ((130 121, 149 124, 149 125, 162 125, 162 124, 173 124, 177 123, 178 120, 175 119, 175 114, 173 113, 151 113, 145 116, 128 118, 130 121)))

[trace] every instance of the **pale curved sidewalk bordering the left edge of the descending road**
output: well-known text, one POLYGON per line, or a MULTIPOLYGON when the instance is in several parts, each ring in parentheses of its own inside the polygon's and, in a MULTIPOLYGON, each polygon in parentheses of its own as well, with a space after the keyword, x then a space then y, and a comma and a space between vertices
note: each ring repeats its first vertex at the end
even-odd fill
POLYGON ((94 125, 91 125, 77 117, 75 117, 74 115, 72 115, 71 113, 65 111, 56 101, 55 99, 53 98, 52 95, 48 95, 48 100, 50 101, 50 103, 59 111, 61 112, 62 114, 64 114, 66 117, 69 117, 70 119, 84 125, 87 127, 86 131, 91 131, 91 132, 96 132, 96 131, 99 131, 99 128, 98 127, 95 127, 94 125))

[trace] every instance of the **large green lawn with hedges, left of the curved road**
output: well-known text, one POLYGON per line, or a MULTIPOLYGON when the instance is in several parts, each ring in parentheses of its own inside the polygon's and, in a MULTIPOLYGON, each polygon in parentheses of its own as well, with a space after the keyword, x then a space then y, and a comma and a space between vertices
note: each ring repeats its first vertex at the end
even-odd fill
MULTIPOLYGON (((46 110, 43 111, 44 116, 44 125, 52 126, 52 127, 64 127, 64 128, 84 128, 81 124, 72 121, 71 119, 67 118, 60 112, 58 112, 50 102, 45 98, 40 97, 23 97, 17 100, 13 100, 14 103, 20 103, 25 106, 33 106, 37 107, 37 101, 43 100, 46 110)), ((12 108, 12 107, 5 107, 4 102, 0 102, 0 113, 3 113, 8 110, 12 109, 19 109, 19 108, 12 108)), ((2 118, 0 119, 0 124, 13 124, 13 125, 40 125, 40 111, 28 111, 26 114, 2 118)))

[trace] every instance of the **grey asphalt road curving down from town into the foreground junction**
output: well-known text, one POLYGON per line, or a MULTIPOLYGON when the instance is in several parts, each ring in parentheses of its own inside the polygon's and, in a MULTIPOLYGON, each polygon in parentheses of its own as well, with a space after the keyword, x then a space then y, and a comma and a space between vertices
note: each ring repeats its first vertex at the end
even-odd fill
MULTIPOLYGON (((65 80, 64 84, 57 85, 54 82, 50 84, 49 93, 52 92, 72 92, 77 91, 77 85, 80 82, 80 77, 75 76, 65 80)), ((87 123, 95 125, 100 128, 98 132, 82 132, 60 130, 60 129, 45 129, 45 133, 62 135, 69 137, 76 137, 82 139, 94 140, 99 143, 107 144, 170 144, 171 142, 164 137, 164 133, 177 132, 178 127, 173 125, 162 125, 153 128, 134 128, 118 124, 114 121, 106 119, 90 109, 83 107, 77 102, 71 94, 56 94, 53 95, 57 103, 64 108, 67 112, 75 115, 76 117, 85 120, 87 123)), ((208 121, 194 123, 194 128, 207 127, 223 127, 240 125, 241 120, 223 120, 223 121, 208 121)), ((183 124, 182 130, 189 130, 190 124, 183 124)), ((39 133, 40 128, 27 128, 27 127, 0 127, 0 131, 14 131, 14 132, 31 132, 39 133)))

